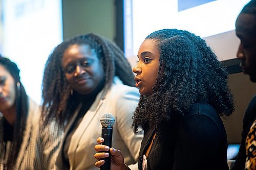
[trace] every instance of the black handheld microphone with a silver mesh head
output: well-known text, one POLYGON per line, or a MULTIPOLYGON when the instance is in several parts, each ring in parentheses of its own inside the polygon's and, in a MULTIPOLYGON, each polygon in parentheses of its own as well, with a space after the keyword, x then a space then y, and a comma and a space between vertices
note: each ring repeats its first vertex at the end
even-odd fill
MULTIPOLYGON (((113 125, 115 124, 115 117, 110 113, 105 113, 100 118, 100 123, 102 126, 101 137, 104 138, 103 145, 107 145, 110 148, 112 147, 112 134, 113 134, 113 125)), ((111 169, 111 154, 109 151, 109 157, 103 158, 105 163, 100 166, 100 170, 110 170, 111 169)))

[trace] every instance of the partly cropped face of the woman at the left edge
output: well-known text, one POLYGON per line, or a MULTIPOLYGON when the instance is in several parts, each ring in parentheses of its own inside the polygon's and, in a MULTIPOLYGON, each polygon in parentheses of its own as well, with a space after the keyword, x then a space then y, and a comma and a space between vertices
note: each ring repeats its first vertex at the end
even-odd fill
POLYGON ((10 72, 0 64, 0 111, 5 112, 15 103, 15 81, 10 72))

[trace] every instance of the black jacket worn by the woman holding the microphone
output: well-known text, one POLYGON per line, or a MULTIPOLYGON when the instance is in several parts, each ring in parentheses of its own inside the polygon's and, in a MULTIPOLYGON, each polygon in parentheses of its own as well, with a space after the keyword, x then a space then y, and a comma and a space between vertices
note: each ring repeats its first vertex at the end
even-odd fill
POLYGON ((228 169, 227 136, 216 110, 196 103, 184 116, 176 116, 161 131, 145 130, 138 166, 156 132, 147 157, 150 169, 228 169))

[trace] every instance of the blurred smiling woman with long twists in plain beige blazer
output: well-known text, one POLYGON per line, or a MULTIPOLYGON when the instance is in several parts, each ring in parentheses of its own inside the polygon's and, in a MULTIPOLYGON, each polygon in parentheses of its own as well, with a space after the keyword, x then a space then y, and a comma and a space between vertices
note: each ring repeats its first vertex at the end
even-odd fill
POLYGON ((131 127, 139 100, 133 77, 123 52, 104 37, 76 36, 54 49, 44 72, 42 110, 46 122, 56 118, 65 129, 58 169, 96 168, 93 139, 101 136, 106 112, 116 119, 113 144, 127 165, 137 162, 143 133, 135 135, 131 127))

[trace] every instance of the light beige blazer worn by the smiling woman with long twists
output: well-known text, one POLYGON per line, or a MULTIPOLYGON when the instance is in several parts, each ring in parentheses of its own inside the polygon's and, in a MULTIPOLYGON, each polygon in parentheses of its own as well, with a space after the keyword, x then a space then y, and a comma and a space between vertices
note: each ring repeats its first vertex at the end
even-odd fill
MULTIPOLYGON (((113 126, 112 147, 122 151, 126 164, 137 162, 143 131, 135 135, 132 129, 132 116, 139 101, 139 90, 123 85, 115 77, 114 83, 106 95, 104 89, 97 95, 95 102, 84 114, 81 123, 74 132, 68 150, 70 169, 97 169, 94 164, 96 139, 101 136, 100 117, 108 112, 114 115, 116 122, 113 126)), ((66 131, 70 129, 69 124, 66 131)), ((62 164, 62 147, 56 165, 65 169, 62 164)), ((137 165, 135 165, 136 167, 137 165)))

